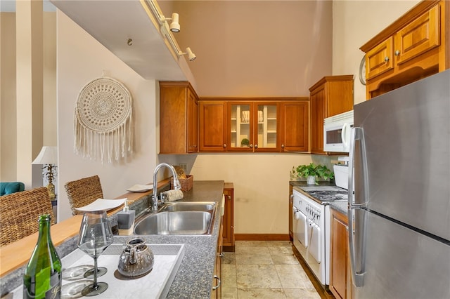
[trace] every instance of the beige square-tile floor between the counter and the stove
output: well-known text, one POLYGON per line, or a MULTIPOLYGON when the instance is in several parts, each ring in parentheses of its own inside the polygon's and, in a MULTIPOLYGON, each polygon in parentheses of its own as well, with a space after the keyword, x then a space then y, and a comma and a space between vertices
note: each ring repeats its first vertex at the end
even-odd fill
POLYGON ((236 241, 221 276, 222 298, 321 298, 289 241, 236 241))

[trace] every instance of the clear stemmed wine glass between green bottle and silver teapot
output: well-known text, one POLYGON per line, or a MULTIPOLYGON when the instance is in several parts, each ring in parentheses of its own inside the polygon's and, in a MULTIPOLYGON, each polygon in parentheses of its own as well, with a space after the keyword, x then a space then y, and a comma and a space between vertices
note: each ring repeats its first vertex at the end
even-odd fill
POLYGON ((94 283, 86 286, 82 295, 94 296, 108 288, 105 282, 97 282, 97 258, 113 243, 113 231, 106 211, 89 211, 84 213, 79 228, 78 248, 94 258, 94 283))

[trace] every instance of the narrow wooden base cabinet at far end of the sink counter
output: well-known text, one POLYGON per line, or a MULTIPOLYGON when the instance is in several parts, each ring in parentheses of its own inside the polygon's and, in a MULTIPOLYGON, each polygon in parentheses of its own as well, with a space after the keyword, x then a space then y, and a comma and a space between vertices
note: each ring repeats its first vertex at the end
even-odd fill
POLYGON ((224 251, 234 252, 234 187, 232 182, 224 185, 225 213, 222 218, 224 225, 223 246, 224 251))

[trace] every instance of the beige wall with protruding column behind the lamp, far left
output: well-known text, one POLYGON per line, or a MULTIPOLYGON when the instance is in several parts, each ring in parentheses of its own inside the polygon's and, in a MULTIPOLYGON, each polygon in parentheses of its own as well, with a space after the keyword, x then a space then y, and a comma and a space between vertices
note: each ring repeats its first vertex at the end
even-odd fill
POLYGON ((27 189, 42 185, 41 166, 31 161, 42 145, 57 144, 56 13, 33 4, 22 1, 17 14, 0 18, 0 180, 20 180, 27 189))

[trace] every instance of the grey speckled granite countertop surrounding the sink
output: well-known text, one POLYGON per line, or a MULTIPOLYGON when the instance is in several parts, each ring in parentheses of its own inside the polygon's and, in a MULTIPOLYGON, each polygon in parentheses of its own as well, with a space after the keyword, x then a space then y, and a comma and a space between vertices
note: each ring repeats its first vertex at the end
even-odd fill
MULTIPOLYGON (((160 187, 158 186, 158 190, 160 187)), ((210 298, 212 290, 212 277, 217 252, 217 240, 221 225, 222 194, 224 192, 224 181, 194 181, 193 187, 188 192, 184 192, 181 201, 215 201, 217 202, 216 215, 214 217, 214 227, 210 235, 146 235, 144 236, 148 244, 185 244, 184 258, 181 261, 178 272, 176 272, 172 286, 169 289, 167 298, 210 298)), ((134 204, 139 206, 139 201, 148 201, 148 193, 143 194, 134 204)), ((115 215, 110 215, 110 219, 117 223, 115 215)), ((114 243, 124 243, 135 236, 114 236, 114 243)), ((65 241, 57 246, 60 258, 77 248, 77 236, 65 241)), ((11 272, 2 277, 1 292, 13 291, 13 288, 20 286, 23 279, 24 267, 11 272), (8 290, 6 290, 6 288, 8 290)), ((132 295, 132 290, 130 290, 132 295)))

